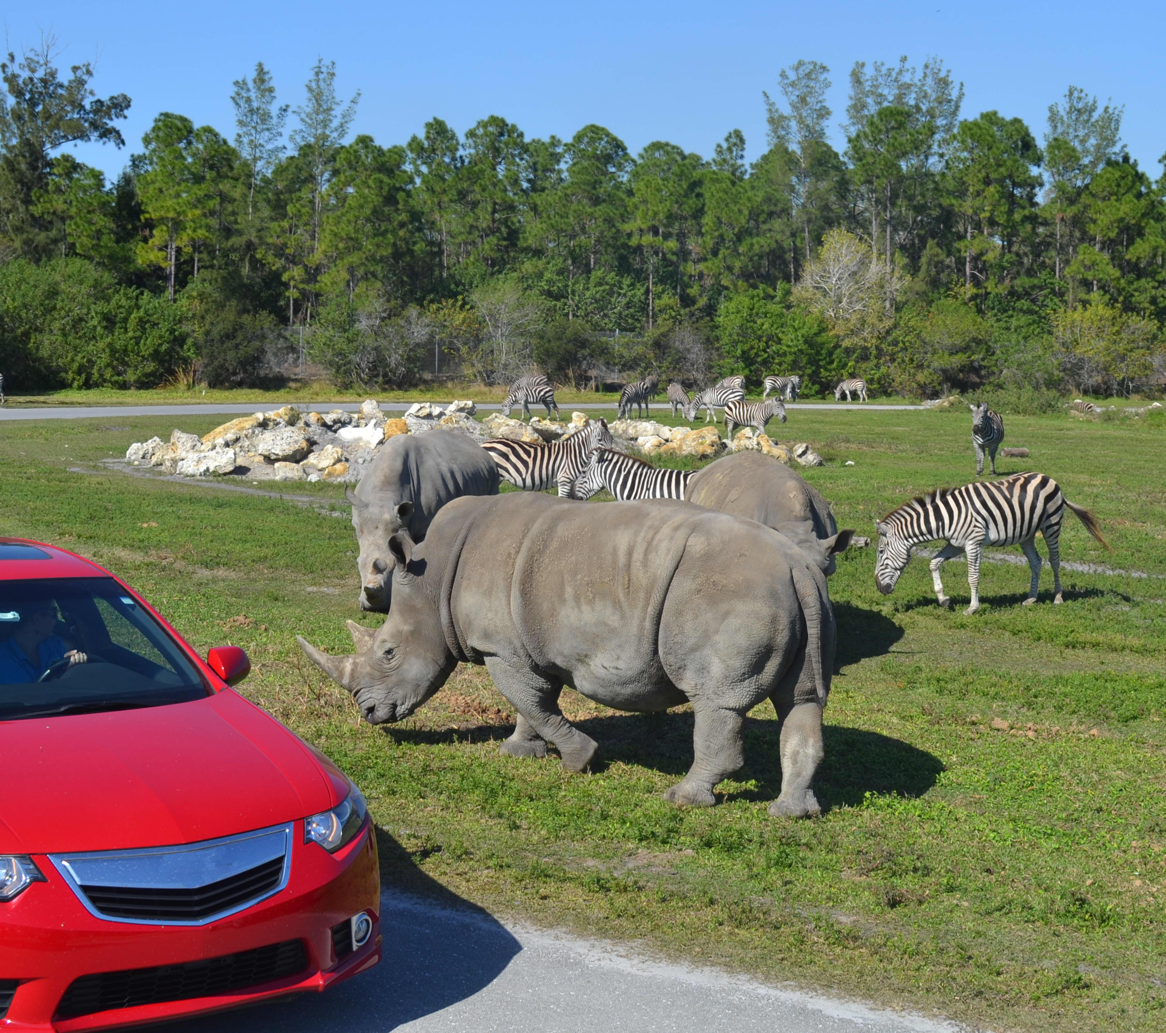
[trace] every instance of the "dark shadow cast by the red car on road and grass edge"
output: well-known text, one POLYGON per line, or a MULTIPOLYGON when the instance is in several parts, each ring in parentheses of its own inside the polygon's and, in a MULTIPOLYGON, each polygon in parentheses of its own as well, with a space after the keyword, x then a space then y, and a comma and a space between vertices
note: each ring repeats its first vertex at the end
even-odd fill
POLYGON ((175 1023, 180 1033, 384 1033, 473 997, 522 950, 489 912, 423 872, 384 829, 379 965, 333 986, 241 1012, 175 1023))

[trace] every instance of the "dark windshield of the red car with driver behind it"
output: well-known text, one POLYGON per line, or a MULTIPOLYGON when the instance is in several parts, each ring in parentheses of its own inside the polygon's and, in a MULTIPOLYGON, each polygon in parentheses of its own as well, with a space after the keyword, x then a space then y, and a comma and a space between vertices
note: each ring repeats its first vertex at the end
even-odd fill
POLYGON ((0 581, 0 721, 161 707, 210 691, 113 578, 0 581))

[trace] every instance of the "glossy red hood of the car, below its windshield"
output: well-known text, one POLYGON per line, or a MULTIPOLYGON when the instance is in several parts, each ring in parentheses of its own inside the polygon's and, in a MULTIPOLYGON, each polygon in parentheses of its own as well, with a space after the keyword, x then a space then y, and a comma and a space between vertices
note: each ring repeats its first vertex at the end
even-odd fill
POLYGON ((0 853, 213 839, 335 807, 326 758, 226 690, 203 700, 0 722, 0 853))

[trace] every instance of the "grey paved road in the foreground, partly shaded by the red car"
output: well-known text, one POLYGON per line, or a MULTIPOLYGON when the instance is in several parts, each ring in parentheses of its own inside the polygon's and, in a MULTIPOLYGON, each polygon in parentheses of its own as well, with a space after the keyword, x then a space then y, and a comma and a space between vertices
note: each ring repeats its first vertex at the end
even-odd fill
POLYGON ((661 964, 610 943, 386 895, 385 960, 328 993, 175 1033, 955 1033, 954 1024, 661 964))

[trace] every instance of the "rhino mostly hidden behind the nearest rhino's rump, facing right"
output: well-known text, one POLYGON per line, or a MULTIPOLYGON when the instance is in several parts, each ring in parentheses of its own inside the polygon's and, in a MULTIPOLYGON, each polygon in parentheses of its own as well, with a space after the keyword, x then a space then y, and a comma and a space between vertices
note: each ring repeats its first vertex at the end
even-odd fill
POLYGON ((813 485, 760 452, 735 452, 709 463, 693 475, 684 499, 781 532, 827 577, 837 567, 834 557, 854 536, 852 530, 838 530, 829 503, 813 485))

